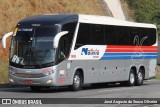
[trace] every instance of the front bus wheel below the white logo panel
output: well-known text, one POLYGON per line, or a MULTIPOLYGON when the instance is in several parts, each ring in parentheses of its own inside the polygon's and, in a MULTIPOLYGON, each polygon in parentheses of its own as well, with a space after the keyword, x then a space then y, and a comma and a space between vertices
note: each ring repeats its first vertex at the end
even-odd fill
POLYGON ((70 86, 72 91, 78 91, 82 89, 82 75, 76 71, 73 77, 73 84, 70 86))

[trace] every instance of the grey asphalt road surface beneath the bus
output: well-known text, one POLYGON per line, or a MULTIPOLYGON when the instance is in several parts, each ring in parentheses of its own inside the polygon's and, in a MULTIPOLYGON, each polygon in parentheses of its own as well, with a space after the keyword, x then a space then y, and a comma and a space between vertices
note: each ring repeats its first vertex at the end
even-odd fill
MULTIPOLYGON (((98 87, 84 86, 83 90, 72 92, 67 87, 43 89, 32 92, 29 87, 0 88, 0 98, 160 98, 160 81, 148 80, 142 86, 120 86, 111 84, 98 87)), ((65 107, 160 107, 158 104, 65 104, 65 107)), ((22 105, 0 105, 0 107, 22 107, 22 105)), ((23 105, 35 107, 36 105, 23 105)), ((63 107, 64 105, 38 105, 36 107, 63 107)))

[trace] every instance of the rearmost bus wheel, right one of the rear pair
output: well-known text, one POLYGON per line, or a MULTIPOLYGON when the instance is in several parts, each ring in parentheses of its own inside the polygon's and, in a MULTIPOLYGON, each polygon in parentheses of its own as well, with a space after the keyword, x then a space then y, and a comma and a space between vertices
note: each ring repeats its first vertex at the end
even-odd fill
POLYGON ((143 84, 143 80, 144 80, 144 72, 142 69, 139 69, 138 74, 136 76, 136 85, 140 86, 143 84))

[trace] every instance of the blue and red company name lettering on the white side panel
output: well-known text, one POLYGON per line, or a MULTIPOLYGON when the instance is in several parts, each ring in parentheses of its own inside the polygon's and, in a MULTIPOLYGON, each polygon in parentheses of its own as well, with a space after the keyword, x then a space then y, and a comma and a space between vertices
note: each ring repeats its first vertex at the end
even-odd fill
POLYGON ((98 49, 88 49, 88 48, 82 48, 81 55, 99 55, 98 49))

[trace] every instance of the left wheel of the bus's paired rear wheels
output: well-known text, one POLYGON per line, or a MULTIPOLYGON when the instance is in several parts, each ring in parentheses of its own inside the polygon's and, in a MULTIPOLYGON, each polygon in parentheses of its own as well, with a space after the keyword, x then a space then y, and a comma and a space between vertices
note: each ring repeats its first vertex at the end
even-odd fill
POLYGON ((127 85, 128 86, 134 86, 135 85, 135 72, 133 69, 130 70, 130 73, 129 73, 129 79, 127 81, 127 85))

